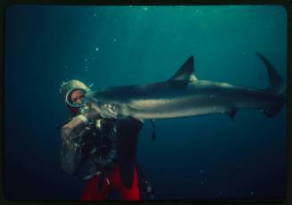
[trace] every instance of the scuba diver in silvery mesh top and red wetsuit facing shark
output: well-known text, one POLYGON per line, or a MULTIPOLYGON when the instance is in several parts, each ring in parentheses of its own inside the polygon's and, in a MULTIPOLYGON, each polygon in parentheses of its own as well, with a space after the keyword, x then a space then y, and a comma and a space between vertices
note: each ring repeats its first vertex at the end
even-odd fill
POLYGON ((61 127, 61 167, 88 184, 81 200, 106 200, 117 190, 122 200, 152 200, 153 187, 138 166, 138 133, 143 122, 131 117, 105 119, 85 98, 88 86, 63 83, 61 94, 71 119, 61 127))

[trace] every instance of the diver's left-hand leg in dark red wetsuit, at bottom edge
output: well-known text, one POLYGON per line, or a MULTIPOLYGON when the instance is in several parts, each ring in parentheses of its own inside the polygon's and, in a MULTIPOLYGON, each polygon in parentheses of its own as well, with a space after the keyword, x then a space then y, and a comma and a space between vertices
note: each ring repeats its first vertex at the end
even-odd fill
POLYGON ((106 176, 92 177, 81 195, 83 201, 106 200, 110 191, 109 179, 106 176))

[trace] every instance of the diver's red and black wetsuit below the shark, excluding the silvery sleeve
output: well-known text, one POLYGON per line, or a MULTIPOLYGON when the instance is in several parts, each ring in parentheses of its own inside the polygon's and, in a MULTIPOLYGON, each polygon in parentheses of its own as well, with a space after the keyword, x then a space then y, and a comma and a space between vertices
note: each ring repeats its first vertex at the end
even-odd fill
POLYGON ((108 194, 117 190, 122 200, 141 200, 141 180, 136 163, 138 132, 143 126, 133 119, 122 119, 117 122, 117 161, 113 171, 107 175, 92 177, 81 200, 106 200, 108 194))

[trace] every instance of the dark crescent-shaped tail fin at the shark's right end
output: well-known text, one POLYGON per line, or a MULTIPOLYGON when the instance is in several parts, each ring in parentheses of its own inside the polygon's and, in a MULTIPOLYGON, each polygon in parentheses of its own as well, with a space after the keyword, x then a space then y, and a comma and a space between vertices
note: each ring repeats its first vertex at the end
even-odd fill
POLYGON ((261 53, 256 54, 262 59, 268 71, 270 79, 269 90, 271 91, 271 93, 277 94, 279 96, 279 102, 276 103, 276 105, 265 108, 263 111, 268 118, 271 118, 279 113, 279 111, 283 107, 283 104, 286 102, 286 86, 283 78, 281 78, 277 70, 273 68, 271 62, 268 61, 261 53))

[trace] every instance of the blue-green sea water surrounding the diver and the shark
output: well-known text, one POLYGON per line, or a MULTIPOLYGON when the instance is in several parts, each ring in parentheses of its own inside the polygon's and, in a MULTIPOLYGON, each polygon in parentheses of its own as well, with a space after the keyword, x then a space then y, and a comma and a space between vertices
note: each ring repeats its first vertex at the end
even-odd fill
MULTIPOLYGON (((189 56, 199 79, 266 88, 263 53, 287 78, 287 13, 258 6, 13 5, 5 16, 4 181, 7 199, 77 200, 87 181, 60 168, 59 87, 98 90, 163 81, 189 56)), ((286 106, 148 121, 138 160, 156 199, 285 197, 286 106)))

